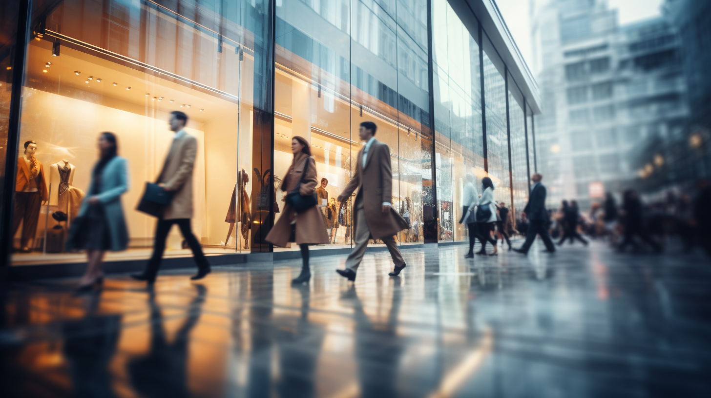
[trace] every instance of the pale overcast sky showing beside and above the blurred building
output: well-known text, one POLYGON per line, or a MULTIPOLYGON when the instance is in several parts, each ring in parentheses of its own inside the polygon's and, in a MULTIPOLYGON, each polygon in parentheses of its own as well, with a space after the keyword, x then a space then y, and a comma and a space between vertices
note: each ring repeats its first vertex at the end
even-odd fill
MULTIPOLYGON (((708 1, 708 0, 702 0, 708 1)), ((609 0, 611 9, 618 9, 619 23, 625 24, 660 15, 663 0, 609 0)), ((498 9, 506 20, 508 30, 521 50, 529 68, 531 62, 530 23, 528 21, 529 0, 496 0, 498 9)))

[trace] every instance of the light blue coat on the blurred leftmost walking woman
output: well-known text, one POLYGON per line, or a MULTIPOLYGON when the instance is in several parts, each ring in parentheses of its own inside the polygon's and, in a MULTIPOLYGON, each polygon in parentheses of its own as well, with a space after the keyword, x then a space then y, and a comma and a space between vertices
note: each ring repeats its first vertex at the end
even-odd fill
MULTIPOLYGON (((89 210, 88 200, 91 198, 91 193, 94 192, 95 183, 94 173, 92 173, 89 190, 82 202, 78 217, 82 217, 89 210)), ((104 166, 104 170, 101 172, 101 185, 96 190, 98 192, 97 198, 104 205, 109 228, 110 249, 114 252, 126 249, 129 243, 129 232, 124 218, 124 209, 121 205, 121 195, 127 190, 129 190, 128 161, 126 158, 116 156, 104 166)), ((68 245, 70 242, 72 239, 68 240, 68 245)), ((73 248, 68 247, 68 249, 73 248)))

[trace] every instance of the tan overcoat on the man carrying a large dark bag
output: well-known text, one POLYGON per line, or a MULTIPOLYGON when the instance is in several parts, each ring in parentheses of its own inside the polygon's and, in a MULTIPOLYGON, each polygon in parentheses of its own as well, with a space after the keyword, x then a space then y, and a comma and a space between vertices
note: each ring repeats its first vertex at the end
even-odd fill
POLYGON ((174 189, 173 200, 164 209, 164 220, 193 217, 193 167, 197 152, 198 140, 194 136, 184 130, 176 133, 157 180, 174 189))

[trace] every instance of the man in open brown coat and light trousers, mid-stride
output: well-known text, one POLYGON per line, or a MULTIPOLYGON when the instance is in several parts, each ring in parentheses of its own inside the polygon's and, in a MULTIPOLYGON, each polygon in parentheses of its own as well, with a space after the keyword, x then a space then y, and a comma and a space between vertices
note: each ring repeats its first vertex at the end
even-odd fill
POLYGON ((353 204, 355 247, 346 259, 346 269, 336 270, 349 281, 355 281, 355 273, 363 260, 369 239, 380 239, 387 246, 392 262, 395 263, 395 270, 390 272, 390 276, 397 276, 405 268, 405 260, 397 249, 393 235, 405 230, 408 225, 390 203, 392 198, 390 148, 375 139, 377 129, 373 122, 360 124, 358 136, 365 141, 365 145, 358 152, 355 176, 338 196, 338 201, 343 203, 348 200, 355 188, 358 188, 358 195, 355 195, 353 204))

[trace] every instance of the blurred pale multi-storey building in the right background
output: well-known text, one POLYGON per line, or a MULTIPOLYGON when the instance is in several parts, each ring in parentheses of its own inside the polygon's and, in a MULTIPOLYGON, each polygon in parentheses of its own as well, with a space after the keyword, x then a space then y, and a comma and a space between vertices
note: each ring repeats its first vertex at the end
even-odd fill
POLYGON ((538 170, 552 185, 549 205, 589 205, 591 184, 631 186, 646 148, 680 134, 680 40, 666 18, 618 26, 603 1, 538 1, 532 16, 547 109, 535 124, 538 170))

